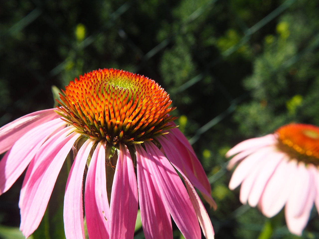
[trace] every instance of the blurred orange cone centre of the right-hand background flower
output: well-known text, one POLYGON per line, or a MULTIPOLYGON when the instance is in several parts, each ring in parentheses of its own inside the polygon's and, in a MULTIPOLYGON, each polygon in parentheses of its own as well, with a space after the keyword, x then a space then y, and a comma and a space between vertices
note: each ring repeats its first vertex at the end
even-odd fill
POLYGON ((319 165, 319 127, 289 124, 280 127, 278 146, 291 157, 305 163, 319 165))

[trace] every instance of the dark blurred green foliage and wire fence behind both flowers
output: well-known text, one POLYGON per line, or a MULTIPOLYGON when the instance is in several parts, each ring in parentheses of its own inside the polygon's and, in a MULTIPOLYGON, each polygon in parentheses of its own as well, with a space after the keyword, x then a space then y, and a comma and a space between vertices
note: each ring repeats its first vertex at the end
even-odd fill
MULTIPOLYGON (((299 238, 283 212, 267 219, 241 205, 224 155, 289 122, 319 125, 318 47, 312 0, 1 1, 0 125, 52 107, 56 87, 93 69, 143 74, 170 93, 207 172, 215 237, 299 238)), ((67 168, 33 238, 64 237, 67 168)), ((19 238, 22 181, 0 197, 0 238, 19 238)), ((318 219, 314 208, 301 238, 319 238, 318 219)))

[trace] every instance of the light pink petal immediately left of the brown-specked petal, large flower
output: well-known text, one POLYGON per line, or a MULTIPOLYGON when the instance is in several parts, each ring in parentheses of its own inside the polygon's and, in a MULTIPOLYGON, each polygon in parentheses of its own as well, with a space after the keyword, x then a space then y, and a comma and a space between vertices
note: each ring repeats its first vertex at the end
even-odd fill
POLYGON ((85 239, 83 224, 82 184, 87 158, 94 144, 88 139, 78 151, 66 182, 63 221, 66 239, 85 239))

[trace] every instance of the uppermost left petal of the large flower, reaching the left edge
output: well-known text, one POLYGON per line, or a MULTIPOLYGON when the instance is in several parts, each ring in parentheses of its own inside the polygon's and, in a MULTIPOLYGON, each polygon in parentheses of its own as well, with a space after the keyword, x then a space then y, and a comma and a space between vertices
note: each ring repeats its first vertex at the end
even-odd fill
POLYGON ((40 110, 4 125, 0 128, 0 154, 9 150, 12 145, 29 130, 60 117, 60 115, 54 112, 54 109, 40 110))

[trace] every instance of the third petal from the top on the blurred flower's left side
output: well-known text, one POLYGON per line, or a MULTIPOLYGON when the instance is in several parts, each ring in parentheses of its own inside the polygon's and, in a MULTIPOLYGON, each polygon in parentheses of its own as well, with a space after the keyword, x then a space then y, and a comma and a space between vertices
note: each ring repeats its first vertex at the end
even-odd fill
POLYGON ((236 187, 238 187, 247 177, 247 175, 254 170, 255 165, 257 165, 257 163, 262 160, 264 156, 272 153, 272 151, 273 147, 264 147, 241 161, 230 179, 229 188, 234 190, 236 187))

